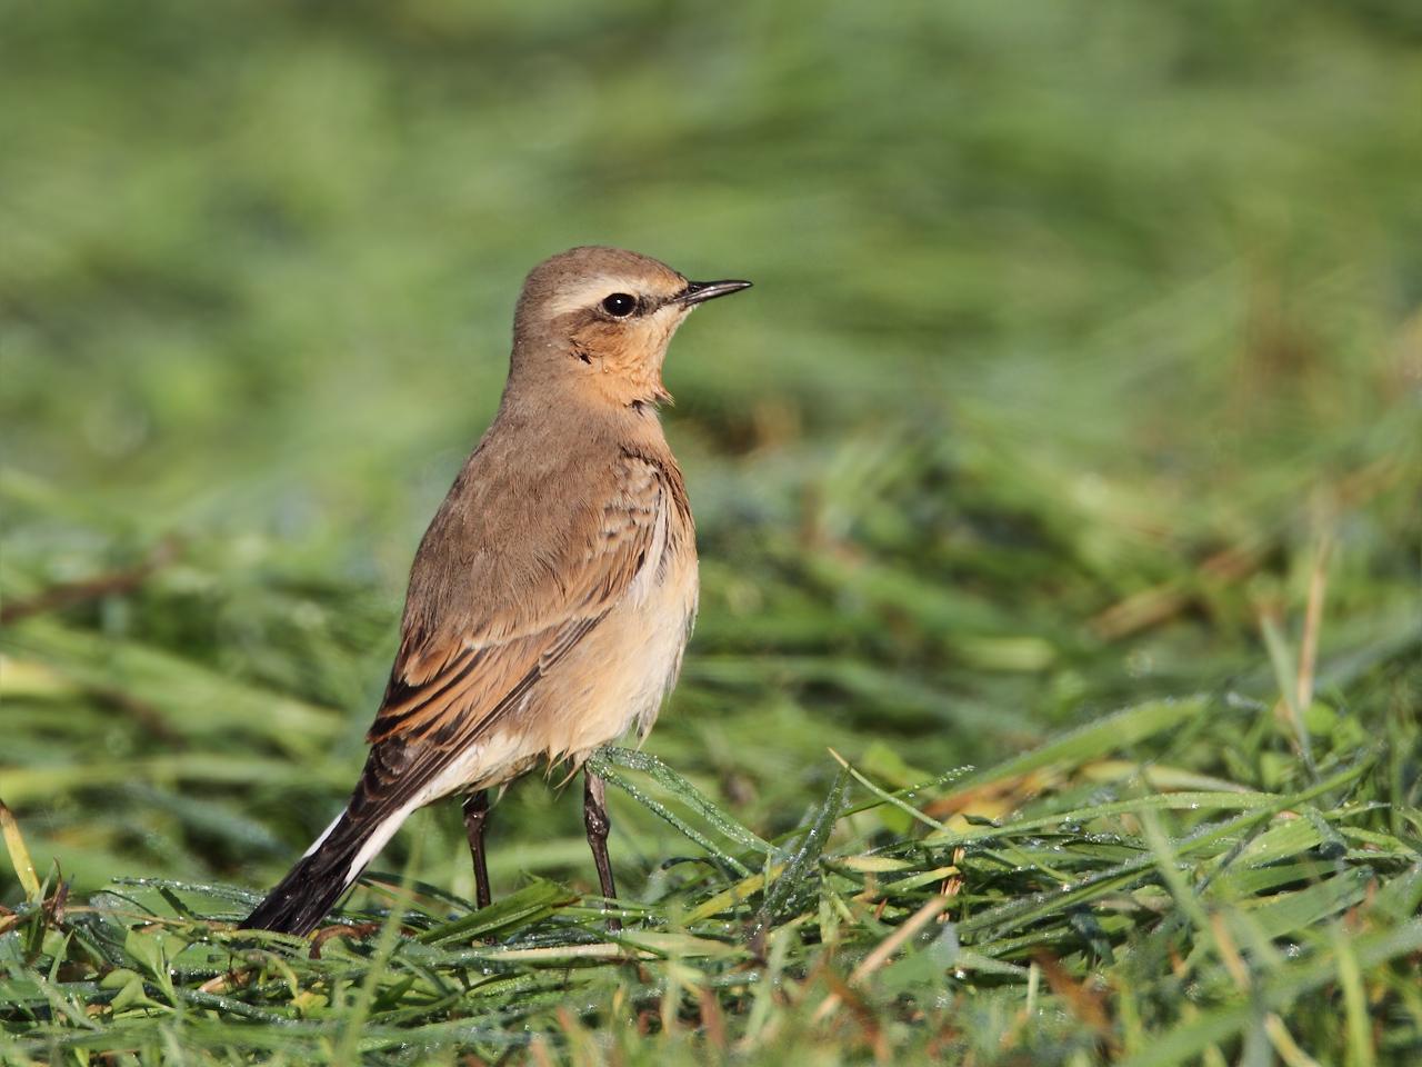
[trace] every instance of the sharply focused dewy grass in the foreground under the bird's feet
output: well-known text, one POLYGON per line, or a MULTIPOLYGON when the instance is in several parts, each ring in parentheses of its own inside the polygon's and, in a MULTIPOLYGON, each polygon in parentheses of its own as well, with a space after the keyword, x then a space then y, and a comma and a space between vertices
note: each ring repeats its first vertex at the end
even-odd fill
POLYGON ((4 940, 11 1054, 1404 1063, 1422 811, 1391 787, 1416 724, 1340 751, 1337 720, 1313 718, 1317 774, 1274 790, 1192 768, 1250 726, 1256 760, 1287 744, 1267 707, 1200 696, 907 790, 846 763, 772 841, 660 760, 609 750, 614 785, 697 845, 614 909, 616 935, 545 879, 476 911, 411 883, 414 856, 367 875, 370 908, 314 943, 236 933, 259 896, 230 886, 119 879, 77 905, 31 883, 4 940), (1011 818, 963 818, 993 807, 1011 818))

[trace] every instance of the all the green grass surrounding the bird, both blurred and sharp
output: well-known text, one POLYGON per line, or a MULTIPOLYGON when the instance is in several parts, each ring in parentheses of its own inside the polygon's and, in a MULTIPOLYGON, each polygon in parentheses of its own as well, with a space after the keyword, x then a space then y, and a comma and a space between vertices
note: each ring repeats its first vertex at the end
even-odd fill
POLYGON ((1422 1058, 1412 6, 0 18, 0 1061, 1422 1058), (533 778, 237 938, 587 240, 757 282, 623 933, 533 778))

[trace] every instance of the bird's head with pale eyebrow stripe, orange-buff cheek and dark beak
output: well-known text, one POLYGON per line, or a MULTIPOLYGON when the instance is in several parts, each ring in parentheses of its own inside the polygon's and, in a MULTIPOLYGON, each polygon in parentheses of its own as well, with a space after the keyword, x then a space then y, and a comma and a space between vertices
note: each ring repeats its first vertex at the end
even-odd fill
POLYGON ((650 256, 584 246, 546 259, 523 283, 513 319, 512 374, 572 383, 599 401, 670 400, 667 344, 697 304, 749 282, 688 282, 650 256))

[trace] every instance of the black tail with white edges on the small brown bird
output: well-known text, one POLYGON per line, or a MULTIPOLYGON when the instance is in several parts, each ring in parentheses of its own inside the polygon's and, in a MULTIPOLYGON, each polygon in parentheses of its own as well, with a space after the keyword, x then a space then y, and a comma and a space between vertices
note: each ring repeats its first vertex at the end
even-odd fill
POLYGON ((401 808, 384 817, 343 811, 286 878, 242 920, 245 930, 276 930, 306 935, 326 918, 365 865, 385 846, 410 814, 401 808))

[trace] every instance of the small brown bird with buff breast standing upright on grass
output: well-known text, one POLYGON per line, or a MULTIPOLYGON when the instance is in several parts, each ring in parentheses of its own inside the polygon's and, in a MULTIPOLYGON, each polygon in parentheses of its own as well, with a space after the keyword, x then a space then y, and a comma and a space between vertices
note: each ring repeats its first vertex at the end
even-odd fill
MULTIPOLYGON (((613 248, 528 276, 498 415, 415 553, 365 770, 243 928, 310 932, 415 808, 456 794, 486 906, 486 791, 651 730, 697 612, 661 364, 691 309, 749 285, 613 248)), ((611 898, 603 782, 586 770, 583 815, 611 898)))

